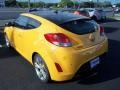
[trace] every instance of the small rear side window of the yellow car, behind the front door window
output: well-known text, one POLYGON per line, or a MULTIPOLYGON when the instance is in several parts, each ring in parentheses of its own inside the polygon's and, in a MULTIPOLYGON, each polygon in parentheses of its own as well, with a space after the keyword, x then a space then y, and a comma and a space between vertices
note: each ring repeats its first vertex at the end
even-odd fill
POLYGON ((27 24, 27 28, 28 29, 34 29, 40 26, 40 22, 38 22, 37 20, 34 20, 32 18, 29 18, 29 22, 27 24))

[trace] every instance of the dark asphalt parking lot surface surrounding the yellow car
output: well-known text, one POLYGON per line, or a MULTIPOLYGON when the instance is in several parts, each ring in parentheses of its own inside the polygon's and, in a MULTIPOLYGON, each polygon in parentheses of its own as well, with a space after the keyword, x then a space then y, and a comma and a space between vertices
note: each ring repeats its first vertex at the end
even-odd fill
POLYGON ((0 31, 0 90, 120 90, 120 21, 100 22, 109 39, 109 52, 98 74, 62 83, 41 83, 32 67, 15 50, 4 46, 0 31))

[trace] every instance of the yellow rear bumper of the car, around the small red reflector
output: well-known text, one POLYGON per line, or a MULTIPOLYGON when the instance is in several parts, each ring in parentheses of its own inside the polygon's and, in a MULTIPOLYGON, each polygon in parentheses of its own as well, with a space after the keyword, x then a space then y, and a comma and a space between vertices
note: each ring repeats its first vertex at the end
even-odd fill
MULTIPOLYGON (((52 69, 49 68, 50 76, 52 80, 55 81, 65 81, 72 79, 79 69, 87 62, 92 59, 99 57, 108 51, 108 40, 107 38, 92 47, 86 48, 84 50, 62 50, 63 54, 61 54, 61 50, 56 51, 54 57, 52 57, 53 64, 59 63, 63 72, 58 72, 55 65, 52 69), (64 52, 65 53, 64 53, 64 52)), ((50 67, 50 65, 48 65, 50 67)))

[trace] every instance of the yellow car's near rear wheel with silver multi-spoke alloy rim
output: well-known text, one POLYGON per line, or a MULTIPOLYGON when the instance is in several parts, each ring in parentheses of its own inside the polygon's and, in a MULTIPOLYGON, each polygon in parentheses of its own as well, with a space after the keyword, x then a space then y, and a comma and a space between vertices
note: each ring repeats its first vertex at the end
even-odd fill
POLYGON ((39 54, 34 55, 33 65, 40 81, 48 83, 51 80, 50 74, 43 58, 39 54))

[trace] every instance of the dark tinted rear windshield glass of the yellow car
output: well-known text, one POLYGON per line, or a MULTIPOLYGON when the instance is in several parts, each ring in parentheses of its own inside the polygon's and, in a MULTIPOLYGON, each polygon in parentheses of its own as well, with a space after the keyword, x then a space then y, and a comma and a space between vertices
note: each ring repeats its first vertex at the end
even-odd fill
POLYGON ((93 20, 75 20, 60 25, 62 28, 75 34, 88 34, 95 32, 97 23, 93 20))

